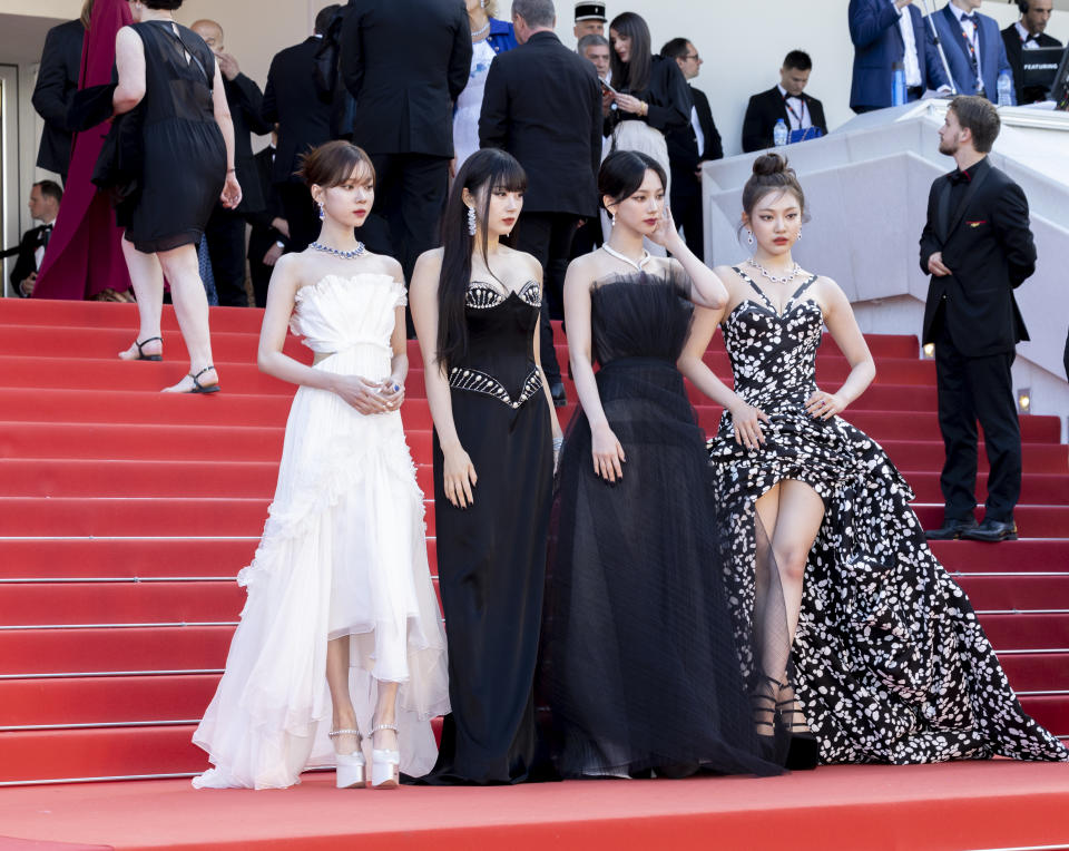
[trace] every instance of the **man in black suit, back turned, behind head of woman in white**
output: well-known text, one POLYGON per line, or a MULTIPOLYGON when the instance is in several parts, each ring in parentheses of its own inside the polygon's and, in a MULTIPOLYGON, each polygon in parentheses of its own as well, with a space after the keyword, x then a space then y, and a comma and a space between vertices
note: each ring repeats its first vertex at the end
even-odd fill
POLYGON ((286 211, 293 251, 304 251, 320 235, 312 193, 296 176, 301 155, 331 140, 334 96, 315 81, 315 55, 326 28, 341 7, 327 6, 315 17, 315 35, 287 47, 271 60, 261 117, 278 125, 278 150, 272 180, 286 211))

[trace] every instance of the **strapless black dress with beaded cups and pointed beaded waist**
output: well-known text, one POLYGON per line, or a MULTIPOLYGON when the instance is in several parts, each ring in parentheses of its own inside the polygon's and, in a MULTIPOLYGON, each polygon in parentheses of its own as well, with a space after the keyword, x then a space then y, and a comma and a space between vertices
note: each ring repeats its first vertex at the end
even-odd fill
MULTIPOLYGON (((549 404, 534 365, 541 294, 474 282, 468 356, 450 370, 453 422, 471 457, 474 502, 447 498, 434 433, 438 575, 449 642, 449 700, 429 784, 541 777, 533 684, 552 503, 549 404)), ((545 766, 542 766, 545 767, 545 766)))

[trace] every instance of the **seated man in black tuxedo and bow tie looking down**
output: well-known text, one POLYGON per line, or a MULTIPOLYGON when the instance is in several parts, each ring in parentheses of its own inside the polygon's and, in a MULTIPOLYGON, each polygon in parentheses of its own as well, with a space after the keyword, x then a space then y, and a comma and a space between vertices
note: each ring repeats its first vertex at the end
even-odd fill
POLYGON ((810 130, 815 136, 815 130, 820 130, 820 135, 827 135, 824 105, 804 91, 812 71, 813 60, 808 53, 801 50, 787 53, 779 69, 778 85, 749 99, 743 119, 744 151, 771 148, 773 130, 781 118, 788 133, 810 130))

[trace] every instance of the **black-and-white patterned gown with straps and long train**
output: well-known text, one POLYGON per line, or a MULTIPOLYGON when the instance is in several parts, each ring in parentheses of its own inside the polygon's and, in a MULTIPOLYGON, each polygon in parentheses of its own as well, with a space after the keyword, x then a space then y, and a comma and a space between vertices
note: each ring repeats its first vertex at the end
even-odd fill
MULTIPOLYGON (((802 284, 778 314, 761 288, 722 324, 735 392, 764 411, 766 442, 735 442, 725 411, 708 443, 742 581, 758 548, 755 501, 795 479, 824 500, 806 565, 792 683, 825 763, 983 759, 1069 761, 1069 751, 1024 714, 965 594, 929 549, 913 492, 883 449, 835 417, 805 412, 816 389, 823 314, 802 284)), ((737 585, 736 585, 737 587, 737 585)), ((753 584, 735 600, 748 627, 753 584)))

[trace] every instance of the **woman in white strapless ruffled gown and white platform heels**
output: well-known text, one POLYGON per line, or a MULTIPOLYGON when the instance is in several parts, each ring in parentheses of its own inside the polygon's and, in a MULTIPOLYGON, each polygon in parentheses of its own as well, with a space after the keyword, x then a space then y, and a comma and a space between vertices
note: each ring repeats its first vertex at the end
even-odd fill
POLYGON ((258 352, 261 370, 301 387, 264 535, 237 578, 248 601, 193 737, 215 766, 197 788, 290 786, 332 765, 339 788, 363 786, 367 757, 371 785, 395 786, 399 770, 434 765, 430 720, 449 712, 423 493, 399 410, 401 266, 353 235, 374 198, 360 148, 328 143, 303 175, 323 228, 275 266, 258 352), (312 366, 283 353, 287 325, 312 366))

